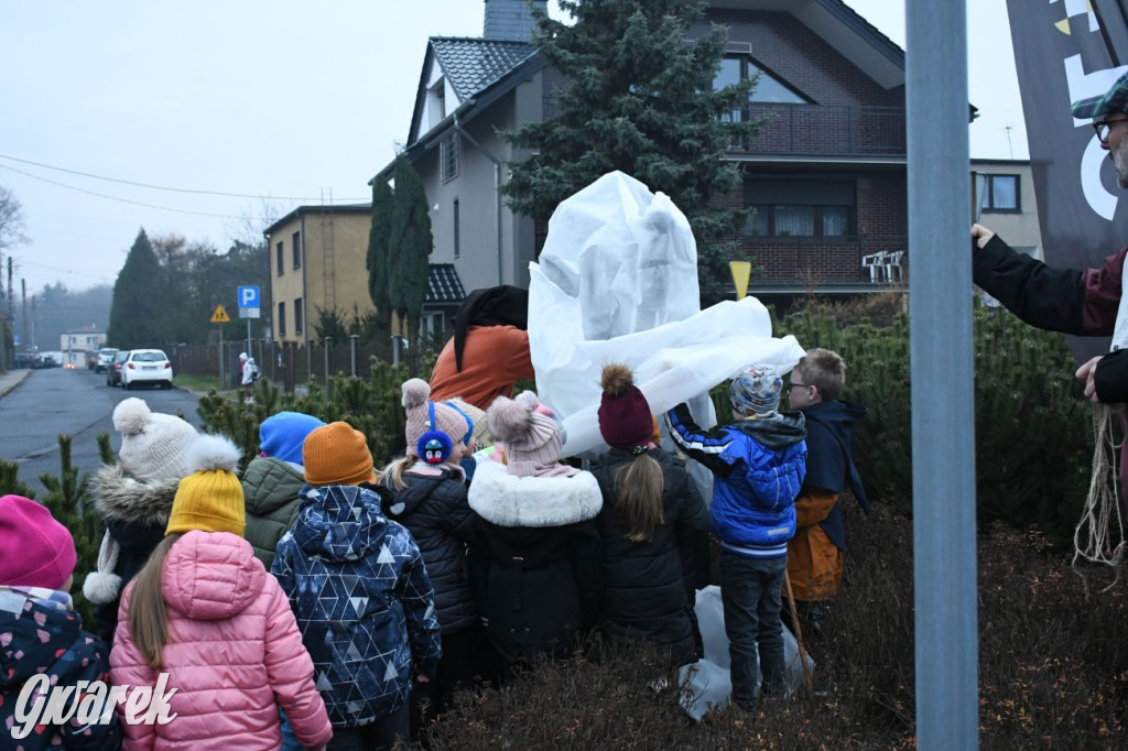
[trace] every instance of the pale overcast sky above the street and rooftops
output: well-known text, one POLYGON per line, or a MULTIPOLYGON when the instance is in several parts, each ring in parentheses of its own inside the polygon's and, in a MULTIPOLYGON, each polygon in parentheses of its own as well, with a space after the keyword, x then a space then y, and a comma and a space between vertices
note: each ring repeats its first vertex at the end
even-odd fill
MULTIPOLYGON (((904 47, 901 2, 846 2, 904 47)), ((1005 0, 968 6, 971 154, 1025 159, 1005 0)), ((17 294, 20 277, 29 293, 113 283, 139 227, 223 250, 263 211, 257 197, 177 191, 267 196, 283 213, 331 195, 368 201, 369 178, 406 138, 428 36, 479 36, 482 9, 0 0, 0 185, 23 203, 28 236, 14 250, 17 294)))

